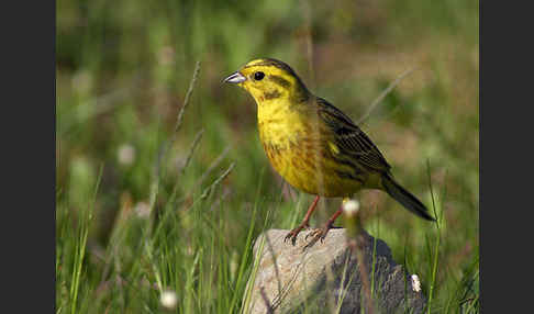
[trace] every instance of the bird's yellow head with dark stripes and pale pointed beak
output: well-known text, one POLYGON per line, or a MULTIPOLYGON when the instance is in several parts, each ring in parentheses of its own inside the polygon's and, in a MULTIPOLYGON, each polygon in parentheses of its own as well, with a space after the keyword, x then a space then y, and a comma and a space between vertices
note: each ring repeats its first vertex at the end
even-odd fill
POLYGON ((252 60, 224 82, 244 88, 260 105, 272 100, 305 101, 309 91, 287 64, 271 58, 252 60))

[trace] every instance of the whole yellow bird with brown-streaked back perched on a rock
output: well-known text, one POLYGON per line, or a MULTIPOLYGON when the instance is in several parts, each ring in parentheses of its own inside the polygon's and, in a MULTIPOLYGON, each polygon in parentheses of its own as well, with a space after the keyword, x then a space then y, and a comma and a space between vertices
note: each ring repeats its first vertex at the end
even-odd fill
MULTIPOLYGON (((412 213, 435 221, 427 209, 393 179, 389 164, 351 117, 311 93, 285 63, 249 61, 224 82, 244 88, 257 103, 259 138, 272 167, 293 188, 314 194, 302 223, 286 239, 309 227, 320 197, 343 198, 360 189, 386 191, 412 213)), ((316 229, 311 244, 324 239, 337 210, 316 229)))

